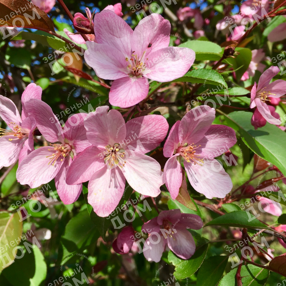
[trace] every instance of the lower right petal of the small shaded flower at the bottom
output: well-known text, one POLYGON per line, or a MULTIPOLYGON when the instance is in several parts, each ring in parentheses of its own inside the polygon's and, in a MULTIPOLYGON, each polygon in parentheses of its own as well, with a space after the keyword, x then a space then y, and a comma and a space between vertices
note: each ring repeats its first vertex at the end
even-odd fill
POLYGON ((180 258, 189 259, 196 251, 192 235, 187 230, 177 230, 173 237, 168 237, 168 247, 180 258))

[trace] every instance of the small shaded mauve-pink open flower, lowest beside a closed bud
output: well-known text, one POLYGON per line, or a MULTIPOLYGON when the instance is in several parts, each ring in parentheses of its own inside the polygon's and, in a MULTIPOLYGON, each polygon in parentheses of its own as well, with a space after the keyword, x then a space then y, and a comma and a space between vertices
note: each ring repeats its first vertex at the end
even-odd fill
POLYGON ((162 210, 158 217, 142 225, 142 231, 149 233, 143 248, 145 258, 159 262, 168 245, 178 257, 189 259, 194 254, 196 245, 187 229, 201 229, 202 225, 198 215, 181 213, 179 209, 162 210))

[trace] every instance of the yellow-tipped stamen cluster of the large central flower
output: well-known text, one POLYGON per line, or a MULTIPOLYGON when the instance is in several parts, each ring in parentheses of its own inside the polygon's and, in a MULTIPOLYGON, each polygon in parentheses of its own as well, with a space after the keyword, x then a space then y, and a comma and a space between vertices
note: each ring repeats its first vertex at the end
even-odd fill
POLYGON ((119 149, 119 144, 116 143, 112 147, 111 145, 105 146, 104 162, 110 167, 110 169, 116 166, 123 167, 126 163, 126 153, 124 149, 119 149))

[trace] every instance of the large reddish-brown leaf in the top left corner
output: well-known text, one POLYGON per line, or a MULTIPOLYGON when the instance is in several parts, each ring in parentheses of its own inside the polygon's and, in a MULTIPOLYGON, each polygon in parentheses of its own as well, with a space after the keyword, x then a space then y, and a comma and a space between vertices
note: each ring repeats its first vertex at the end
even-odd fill
POLYGON ((4 23, 3 21, 1 21, 1 25, 7 24, 9 27, 13 27, 14 20, 14 26, 17 27, 21 27, 21 23, 24 23, 24 28, 52 31, 55 33, 53 22, 48 17, 48 15, 43 12, 39 7, 33 5, 33 3, 30 3, 27 0, 0 0, 0 18, 4 21, 4 23), (18 11, 18 13, 16 13, 16 11, 18 11), (21 13, 19 13, 19 11, 21 13), (40 16, 39 19, 38 15, 35 12, 37 12, 37 14, 40 16), (10 17, 11 13, 12 16, 15 15, 16 17, 10 17), (24 15, 25 13, 27 15, 24 15), (33 16, 32 18, 34 19, 29 18, 28 15, 30 17, 33 16), (7 19, 5 18, 5 16, 7 19), (15 21, 15 19, 17 18, 21 18, 21 20, 15 21))

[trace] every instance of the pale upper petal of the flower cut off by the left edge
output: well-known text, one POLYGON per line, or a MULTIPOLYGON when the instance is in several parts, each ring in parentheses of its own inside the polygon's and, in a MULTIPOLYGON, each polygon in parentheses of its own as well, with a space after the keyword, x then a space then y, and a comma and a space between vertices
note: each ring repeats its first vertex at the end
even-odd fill
POLYGON ((0 117, 7 125, 10 124, 10 122, 15 122, 15 124, 20 126, 22 122, 21 116, 14 102, 3 95, 0 95, 0 117))

